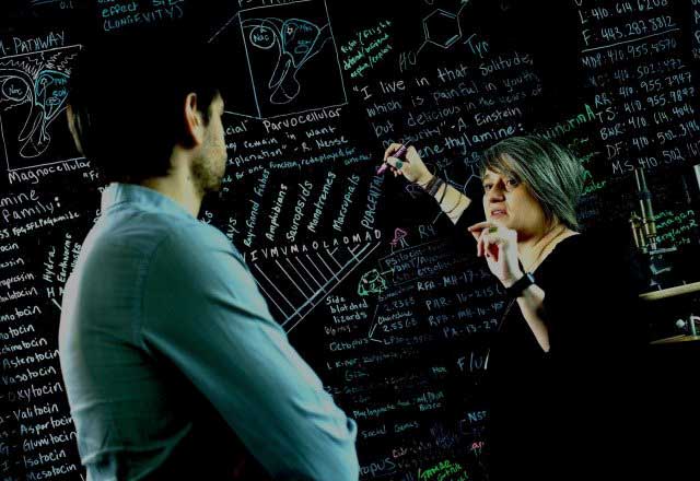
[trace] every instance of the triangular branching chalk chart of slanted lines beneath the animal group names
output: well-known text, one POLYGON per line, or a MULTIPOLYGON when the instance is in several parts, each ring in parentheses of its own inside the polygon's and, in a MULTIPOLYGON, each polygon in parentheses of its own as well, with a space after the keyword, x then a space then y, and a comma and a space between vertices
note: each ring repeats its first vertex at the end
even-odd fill
POLYGON ((255 280, 290 332, 354 271, 381 243, 320 248, 308 254, 253 261, 255 280))

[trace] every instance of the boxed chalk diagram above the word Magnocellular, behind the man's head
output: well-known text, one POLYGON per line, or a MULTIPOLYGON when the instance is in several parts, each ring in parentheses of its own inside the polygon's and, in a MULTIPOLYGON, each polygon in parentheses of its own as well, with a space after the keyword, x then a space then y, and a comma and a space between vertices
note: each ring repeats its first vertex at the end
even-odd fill
POLYGON ((46 162, 52 140, 69 138, 66 122, 54 120, 66 109, 69 64, 79 48, 0 58, 0 140, 8 171, 80 159, 68 143, 65 152, 51 149, 46 162))

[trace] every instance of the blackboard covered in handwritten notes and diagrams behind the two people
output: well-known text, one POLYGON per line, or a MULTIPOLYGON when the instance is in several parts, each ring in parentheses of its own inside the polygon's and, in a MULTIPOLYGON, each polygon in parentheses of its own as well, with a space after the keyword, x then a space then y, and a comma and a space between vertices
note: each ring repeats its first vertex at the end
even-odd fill
POLYGON ((57 332, 100 215, 98 172, 65 121, 71 64, 95 32, 182 31, 228 52, 228 169, 200 219, 243 253, 358 421, 362 480, 487 479, 482 383, 504 308, 435 203, 376 174, 390 142, 477 199, 483 149, 523 133, 564 144, 586 169, 584 228, 640 213, 641 168, 670 249, 664 286, 697 281, 698 1, 195 3, 3 2, 0 479, 83 477, 57 332))

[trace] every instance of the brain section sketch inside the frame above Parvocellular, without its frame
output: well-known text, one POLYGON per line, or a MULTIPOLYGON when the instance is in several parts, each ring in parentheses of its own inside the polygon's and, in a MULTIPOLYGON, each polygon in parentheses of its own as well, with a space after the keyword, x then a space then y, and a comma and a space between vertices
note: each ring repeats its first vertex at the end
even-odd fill
POLYGON ((330 26, 301 19, 249 19, 242 22, 252 46, 268 50, 277 48, 279 57, 268 87, 272 104, 288 104, 301 91, 296 79, 301 68, 331 39, 330 26))

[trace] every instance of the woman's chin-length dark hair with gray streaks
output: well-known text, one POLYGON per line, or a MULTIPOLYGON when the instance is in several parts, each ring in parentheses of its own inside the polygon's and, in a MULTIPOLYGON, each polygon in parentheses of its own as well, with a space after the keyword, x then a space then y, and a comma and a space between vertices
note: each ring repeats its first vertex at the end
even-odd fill
POLYGON ((487 168, 523 183, 550 225, 559 220, 569 228, 579 227, 576 204, 583 193, 584 169, 567 149, 539 137, 511 137, 483 153, 481 177, 487 168))

